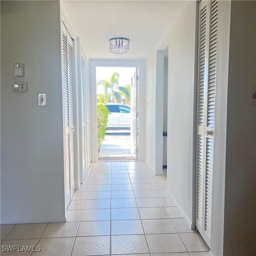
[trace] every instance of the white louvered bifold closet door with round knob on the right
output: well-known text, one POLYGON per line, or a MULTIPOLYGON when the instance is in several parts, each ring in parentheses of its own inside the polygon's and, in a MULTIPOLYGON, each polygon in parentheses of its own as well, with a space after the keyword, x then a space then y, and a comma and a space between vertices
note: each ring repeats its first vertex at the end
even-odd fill
POLYGON ((218 1, 199 3, 196 228, 210 246, 218 1))

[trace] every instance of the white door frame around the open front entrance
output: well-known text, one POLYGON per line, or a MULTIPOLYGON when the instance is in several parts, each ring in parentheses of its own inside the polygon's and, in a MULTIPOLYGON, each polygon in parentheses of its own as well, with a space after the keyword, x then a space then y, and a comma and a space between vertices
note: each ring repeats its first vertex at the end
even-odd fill
POLYGON ((136 68, 138 67, 139 75, 139 118, 138 118, 138 161, 145 160, 145 78, 146 78, 146 61, 145 60, 115 60, 115 59, 89 59, 90 72, 90 116, 91 116, 91 158, 92 162, 98 161, 98 147, 97 147, 97 99, 96 99, 96 67, 124 67, 136 68))

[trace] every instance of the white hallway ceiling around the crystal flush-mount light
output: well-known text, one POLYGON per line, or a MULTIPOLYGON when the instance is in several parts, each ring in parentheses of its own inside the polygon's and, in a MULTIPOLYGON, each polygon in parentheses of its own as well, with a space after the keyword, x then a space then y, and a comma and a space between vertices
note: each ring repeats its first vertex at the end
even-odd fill
POLYGON ((62 6, 88 58, 143 59, 154 50, 187 1, 76 1, 62 6), (109 39, 130 39, 128 54, 109 52, 109 39))

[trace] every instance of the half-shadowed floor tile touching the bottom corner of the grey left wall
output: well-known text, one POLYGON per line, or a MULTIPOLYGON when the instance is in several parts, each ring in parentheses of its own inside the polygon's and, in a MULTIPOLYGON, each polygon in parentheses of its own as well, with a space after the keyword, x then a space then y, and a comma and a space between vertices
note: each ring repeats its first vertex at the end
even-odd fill
POLYGON ((78 222, 49 223, 42 238, 73 237, 77 228, 78 222))

